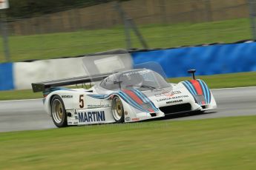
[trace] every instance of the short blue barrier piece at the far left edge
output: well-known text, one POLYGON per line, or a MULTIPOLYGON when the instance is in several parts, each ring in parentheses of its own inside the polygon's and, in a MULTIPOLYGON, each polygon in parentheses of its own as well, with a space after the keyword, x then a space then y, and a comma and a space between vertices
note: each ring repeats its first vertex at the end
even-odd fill
POLYGON ((14 89, 13 64, 0 64, 0 90, 14 89))

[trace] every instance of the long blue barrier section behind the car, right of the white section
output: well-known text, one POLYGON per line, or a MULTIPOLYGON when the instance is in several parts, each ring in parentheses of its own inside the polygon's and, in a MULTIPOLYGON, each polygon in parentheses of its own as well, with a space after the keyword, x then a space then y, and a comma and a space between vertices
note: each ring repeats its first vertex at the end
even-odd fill
POLYGON ((158 62, 168 78, 256 71, 256 43, 219 44, 206 47, 182 47, 169 50, 133 52, 134 65, 158 62))

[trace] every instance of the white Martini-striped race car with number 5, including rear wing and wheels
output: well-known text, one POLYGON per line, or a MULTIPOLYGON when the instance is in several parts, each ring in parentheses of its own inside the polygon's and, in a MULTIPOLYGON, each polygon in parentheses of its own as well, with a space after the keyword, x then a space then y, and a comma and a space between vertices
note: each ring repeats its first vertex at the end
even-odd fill
POLYGON ((206 83, 194 78, 171 84, 151 69, 131 69, 101 75, 32 84, 43 92, 45 110, 58 127, 94 123, 126 123, 182 112, 217 109, 206 83), (96 82, 89 89, 60 86, 96 82))

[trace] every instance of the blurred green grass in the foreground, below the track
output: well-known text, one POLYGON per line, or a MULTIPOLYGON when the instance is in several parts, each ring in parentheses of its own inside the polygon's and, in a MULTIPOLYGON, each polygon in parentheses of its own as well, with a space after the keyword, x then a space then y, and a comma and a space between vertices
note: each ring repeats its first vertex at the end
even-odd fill
POLYGON ((4 132, 0 169, 255 169, 256 116, 4 132))

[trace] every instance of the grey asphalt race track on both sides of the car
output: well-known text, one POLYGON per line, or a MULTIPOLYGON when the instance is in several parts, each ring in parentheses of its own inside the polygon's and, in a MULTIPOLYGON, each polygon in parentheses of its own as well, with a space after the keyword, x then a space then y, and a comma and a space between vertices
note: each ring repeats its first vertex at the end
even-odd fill
MULTIPOLYGON (((256 86, 212 89, 217 101, 216 112, 202 115, 169 116, 165 120, 194 120, 256 115, 256 86)), ((43 110, 42 99, 0 101, 0 132, 56 128, 43 110)))

